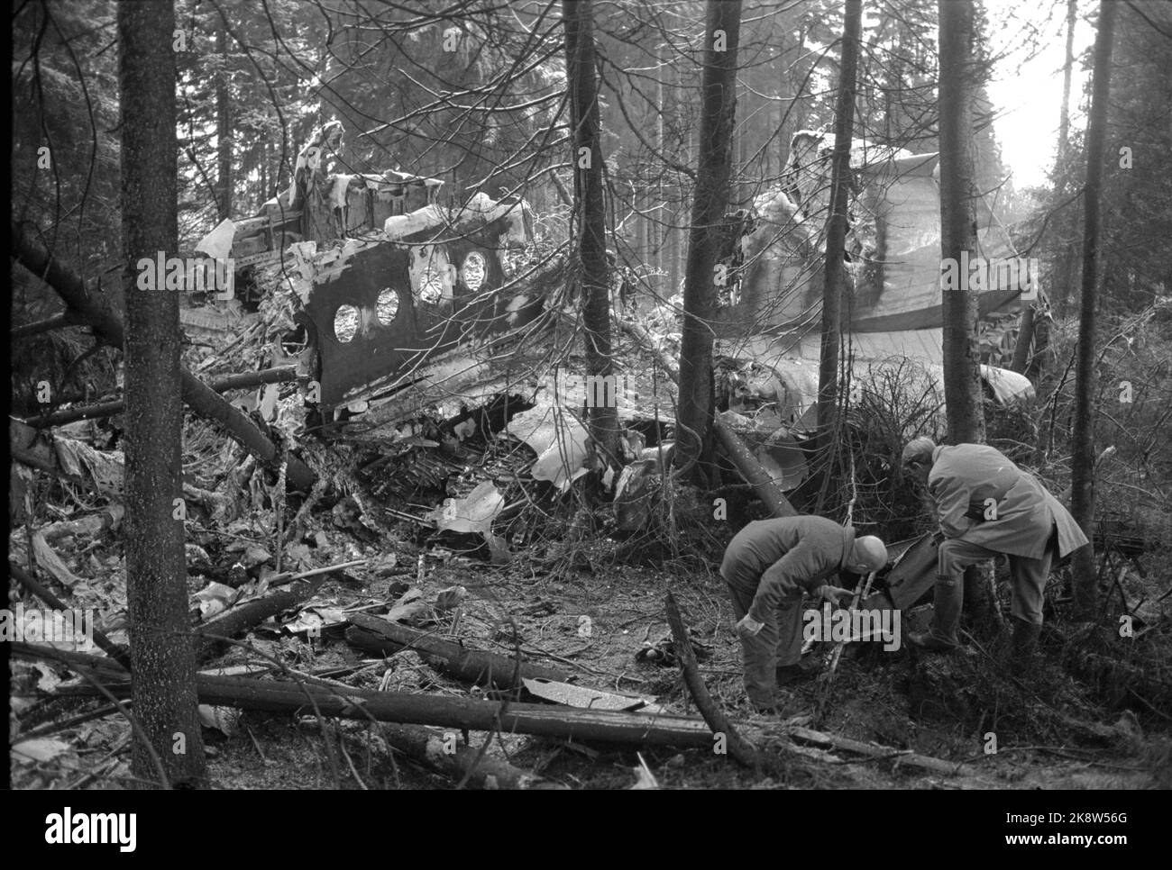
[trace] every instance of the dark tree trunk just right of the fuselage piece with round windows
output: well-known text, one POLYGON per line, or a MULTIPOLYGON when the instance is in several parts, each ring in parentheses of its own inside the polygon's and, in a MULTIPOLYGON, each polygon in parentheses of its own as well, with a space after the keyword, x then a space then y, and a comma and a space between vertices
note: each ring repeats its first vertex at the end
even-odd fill
MULTIPOLYGON (((582 343, 586 375, 614 374, 611 357, 611 293, 606 262, 606 203, 602 199, 602 145, 598 111, 592 0, 563 0, 566 29, 566 80, 573 125, 574 213, 578 218, 578 261, 582 288, 582 343)), ((609 390, 590 409, 591 436, 613 464, 619 446, 619 415, 609 390), (601 406, 598 406, 601 405, 601 406)), ((597 395, 597 393, 595 393, 597 395)))

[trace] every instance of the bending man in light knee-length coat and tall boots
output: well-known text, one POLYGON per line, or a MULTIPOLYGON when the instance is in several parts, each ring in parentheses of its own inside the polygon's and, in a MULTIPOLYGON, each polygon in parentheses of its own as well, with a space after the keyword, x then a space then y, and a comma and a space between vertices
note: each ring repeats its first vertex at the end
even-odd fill
POLYGON ((907 639, 926 650, 956 649, 965 569, 1004 553, 1013 584, 1013 650, 1024 662, 1042 631, 1042 600, 1054 556, 1083 547, 1086 535, 1037 478, 994 447, 938 447, 931 438, 917 438, 904 447, 902 461, 905 471, 927 486, 945 537, 932 628, 907 639))

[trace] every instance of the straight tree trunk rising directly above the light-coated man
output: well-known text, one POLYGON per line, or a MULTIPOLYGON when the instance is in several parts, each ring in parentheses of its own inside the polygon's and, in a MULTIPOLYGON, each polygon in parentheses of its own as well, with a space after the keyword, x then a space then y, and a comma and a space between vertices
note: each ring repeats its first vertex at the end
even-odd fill
MULTIPOLYGON (((940 0, 940 253, 962 265, 961 254, 977 256, 977 197, 973 155, 972 0, 940 0)), ((959 288, 942 290, 943 378, 948 439, 953 444, 984 440, 981 407, 981 355, 977 300, 960 274, 959 288)))

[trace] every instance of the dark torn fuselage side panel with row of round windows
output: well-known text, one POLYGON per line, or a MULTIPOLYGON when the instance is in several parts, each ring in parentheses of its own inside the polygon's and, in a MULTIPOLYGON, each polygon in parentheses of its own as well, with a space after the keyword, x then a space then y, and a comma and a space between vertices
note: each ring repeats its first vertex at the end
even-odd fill
POLYGON ((500 356, 497 342, 530 324, 544 295, 505 279, 502 251, 524 207, 473 203, 389 218, 388 226, 410 230, 397 241, 352 239, 320 254, 298 246, 308 254, 297 289, 320 354, 323 407, 355 406, 428 378, 441 388, 436 400, 454 378, 468 386, 499 376, 490 363, 500 356), (471 381, 459 377, 478 367, 471 381))

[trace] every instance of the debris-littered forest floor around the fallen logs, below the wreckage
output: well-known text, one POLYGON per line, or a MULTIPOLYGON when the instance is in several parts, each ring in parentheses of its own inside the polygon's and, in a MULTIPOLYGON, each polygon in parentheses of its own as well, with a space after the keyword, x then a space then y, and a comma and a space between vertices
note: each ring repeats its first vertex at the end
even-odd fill
MULTIPOLYGON (((189 362, 204 375, 272 364, 261 349, 291 326, 278 320, 270 316, 257 340, 237 343, 230 356, 205 349, 199 351, 203 363, 189 362)), ((626 370, 639 372, 638 389, 645 397, 656 393, 657 400, 665 382, 643 383, 648 368, 632 359, 626 370)), ((263 412, 265 399, 258 395, 253 410, 263 412)), ((275 406, 268 405, 279 427, 304 423, 294 388, 285 388, 275 406)), ((34 552, 42 577, 52 577, 68 605, 95 609, 97 628, 125 643, 121 512, 111 507, 117 499, 108 498, 109 478, 121 473, 122 457, 109 450, 110 425, 76 424, 56 432, 57 453, 67 447, 80 457, 80 467, 96 486, 29 482, 29 521, 12 530, 9 553, 23 566, 34 561, 34 552), (107 495, 96 494, 103 486, 107 495), (100 523, 62 528, 97 516, 103 518, 100 523), (34 540, 40 533, 47 541, 34 540), (60 562, 46 563, 46 544, 60 562)), ((744 506, 728 522, 714 523, 711 507, 697 505, 694 495, 689 501, 688 491, 677 487, 672 511, 659 505, 650 512, 650 529, 619 533, 613 507, 591 515, 579 507, 580 493, 559 495, 551 484, 529 478, 537 454, 517 438, 499 436, 499 427, 486 432, 482 426, 459 443, 423 430, 414 446, 404 451, 400 444, 389 452, 377 440, 307 439, 301 445, 306 459, 329 486, 312 509, 297 514, 298 505, 286 503, 275 473, 257 468, 207 424, 189 422, 185 481, 212 493, 200 503, 196 499, 188 518, 192 628, 264 596, 279 570, 361 561, 332 574, 311 600, 257 625, 239 646, 203 667, 275 660, 362 689, 485 697, 413 651, 373 656, 346 642, 348 614, 380 616, 396 603, 415 601, 406 622, 504 656, 519 642, 529 660, 560 669, 580 685, 638 694, 669 712, 696 715, 676 665, 640 660, 641 651, 663 649, 670 637, 665 615, 670 590, 693 640, 710 651, 700 663, 701 676, 734 726, 761 734, 784 720, 891 752, 863 756, 810 746, 778 748, 771 741, 763 769, 750 770, 710 749, 636 752, 497 734, 488 754, 568 788, 629 788, 640 781, 642 763, 663 788, 1172 787, 1172 632, 1161 609, 1167 603, 1158 607, 1172 585, 1172 569, 1160 553, 1143 557, 1146 570, 1124 569, 1116 582, 1125 600, 1147 602, 1136 629, 1144 635, 1142 646, 1138 640, 1126 646, 1105 629, 1070 621, 1050 595, 1040 662, 1029 673, 1006 663, 1003 638, 972 639, 963 653, 942 659, 925 658, 906 644, 890 652, 880 644, 852 644, 831 683, 783 689, 781 717, 761 717, 744 697, 731 605, 716 573, 740 522, 755 519, 744 514, 744 506), (464 499, 489 480, 505 507, 488 537, 437 528, 444 499, 464 499), (441 592, 455 597, 457 607, 434 607, 441 592), (311 637, 315 629, 318 638, 311 637), (926 773, 904 763, 911 752, 963 765, 963 772, 926 773)), ((656 475, 650 480, 660 482, 656 475)), ((1057 591, 1061 580, 1051 583, 1057 591)), ((9 607, 16 601, 38 607, 34 597, 16 591, 9 601, 9 607)), ((1139 607, 1133 610, 1140 614, 1139 607)), ((927 612, 920 608, 905 615, 905 637, 927 612)), ((827 648, 816 645, 809 655, 825 657, 827 648)), ((130 729, 122 717, 54 727, 105 704, 54 699, 70 681, 77 680, 62 666, 13 662, 14 787, 128 783, 130 729)), ((450 776, 391 749, 373 724, 210 707, 202 715, 213 788, 454 785, 450 776), (338 758, 345 763, 332 763, 338 758)), ((484 733, 471 734, 472 745, 484 739, 484 733)))

